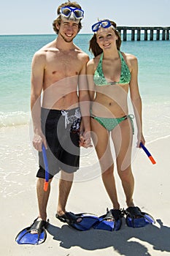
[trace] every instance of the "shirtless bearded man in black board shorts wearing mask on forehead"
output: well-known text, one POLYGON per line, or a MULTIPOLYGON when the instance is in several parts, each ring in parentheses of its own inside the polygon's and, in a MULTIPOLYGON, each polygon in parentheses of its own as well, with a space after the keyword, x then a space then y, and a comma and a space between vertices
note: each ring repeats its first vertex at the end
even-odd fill
MULTIPOLYGON (((68 218, 72 220, 72 215, 66 212, 66 202, 72 187, 73 173, 79 168, 80 146, 90 146, 89 97, 85 79, 85 67, 89 57, 73 42, 82 28, 83 11, 79 4, 68 1, 61 4, 57 12, 58 18, 53 21, 53 29, 58 37, 38 50, 32 61, 33 145, 39 151, 39 170, 36 175, 39 203, 37 222, 47 219, 50 183, 60 170, 56 217, 66 222, 68 218), (77 132, 80 130, 81 116, 79 138, 77 132), (43 190, 45 166, 42 159, 42 144, 47 149, 50 171, 47 192, 43 190)), ((79 221, 80 219, 77 219, 77 222, 79 221)), ((37 227, 34 230, 39 232, 37 227)))

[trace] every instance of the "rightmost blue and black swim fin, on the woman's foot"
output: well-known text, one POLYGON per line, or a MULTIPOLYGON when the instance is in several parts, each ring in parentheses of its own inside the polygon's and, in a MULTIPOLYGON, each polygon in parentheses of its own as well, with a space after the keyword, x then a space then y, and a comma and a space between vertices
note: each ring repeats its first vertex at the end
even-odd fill
POLYGON ((128 227, 145 227, 148 224, 155 224, 155 219, 150 214, 141 211, 137 206, 128 207, 125 214, 125 222, 128 227))

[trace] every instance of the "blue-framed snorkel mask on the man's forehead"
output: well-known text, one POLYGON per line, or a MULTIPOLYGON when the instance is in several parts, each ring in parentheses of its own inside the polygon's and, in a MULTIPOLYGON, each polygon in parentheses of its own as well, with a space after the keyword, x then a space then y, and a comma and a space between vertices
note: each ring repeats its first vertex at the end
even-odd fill
POLYGON ((76 7, 61 7, 61 16, 69 20, 80 20, 84 18, 84 11, 76 7))

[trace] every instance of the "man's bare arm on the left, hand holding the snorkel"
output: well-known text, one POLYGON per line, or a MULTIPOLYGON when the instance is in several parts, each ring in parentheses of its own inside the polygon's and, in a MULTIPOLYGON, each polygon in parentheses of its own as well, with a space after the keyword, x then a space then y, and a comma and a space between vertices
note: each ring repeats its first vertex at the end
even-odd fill
POLYGON ((43 87, 45 69, 45 56, 42 52, 34 54, 31 69, 31 116, 34 126, 33 145, 38 151, 42 151, 42 143, 47 148, 45 135, 41 127, 41 93, 43 87))

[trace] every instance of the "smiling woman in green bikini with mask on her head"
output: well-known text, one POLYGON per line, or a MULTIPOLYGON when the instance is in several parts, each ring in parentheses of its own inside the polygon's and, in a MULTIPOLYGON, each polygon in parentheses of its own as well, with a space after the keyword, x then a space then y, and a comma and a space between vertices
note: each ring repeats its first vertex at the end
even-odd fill
MULTIPOLYGON (((128 91, 134 107, 138 128, 137 146, 144 141, 142 134, 142 100, 138 87, 138 62, 134 55, 120 51, 121 39, 116 23, 100 20, 92 26, 94 32, 89 50, 95 56, 88 61, 87 74, 91 100, 93 143, 101 165, 102 180, 112 201, 112 216, 120 219, 120 203, 113 174, 114 163, 109 138, 115 147, 117 173, 120 176, 126 210, 139 218, 142 213, 134 206, 134 176, 131 171, 131 148, 134 133, 133 115, 128 113, 128 91)), ((109 213, 110 216, 110 213, 109 213)), ((144 218, 142 218, 144 219, 144 218)), ((119 227, 120 228, 120 227, 119 227)))

